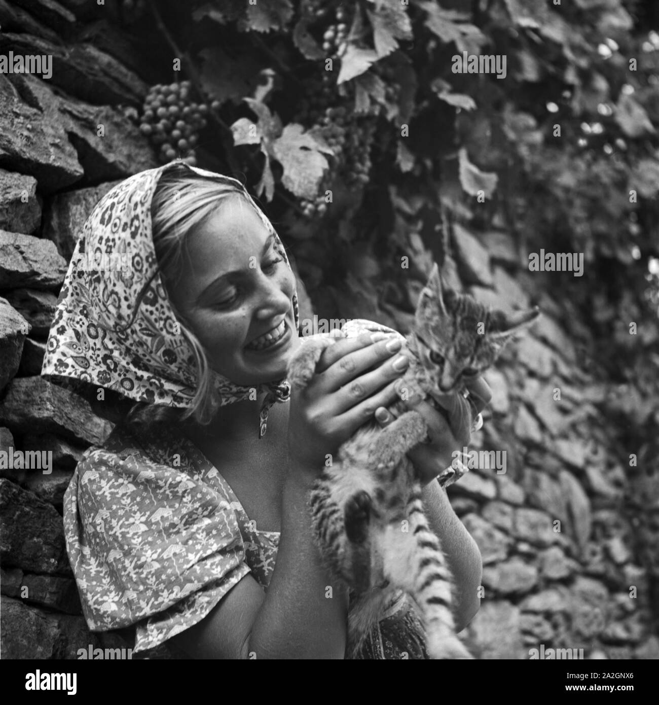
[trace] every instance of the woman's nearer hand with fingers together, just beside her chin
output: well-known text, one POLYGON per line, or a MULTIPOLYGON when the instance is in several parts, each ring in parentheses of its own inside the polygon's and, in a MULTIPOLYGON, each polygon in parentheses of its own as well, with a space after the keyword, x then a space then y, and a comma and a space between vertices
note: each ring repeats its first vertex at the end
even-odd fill
POLYGON ((409 364, 400 348, 393 334, 362 333, 340 338, 323 351, 309 385, 292 390, 288 450, 294 470, 316 477, 327 455, 334 455, 378 407, 393 403, 394 384, 409 364), (397 361, 400 368, 394 367, 397 361))

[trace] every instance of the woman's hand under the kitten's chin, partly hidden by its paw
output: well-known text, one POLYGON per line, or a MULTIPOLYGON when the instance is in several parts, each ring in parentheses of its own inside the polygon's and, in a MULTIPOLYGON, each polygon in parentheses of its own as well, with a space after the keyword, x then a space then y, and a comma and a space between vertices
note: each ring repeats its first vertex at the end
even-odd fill
MULTIPOLYGON (((491 388, 482 377, 470 381, 467 388, 472 393, 476 410, 481 412, 492 398, 491 388)), ((445 415, 417 395, 412 395, 404 402, 408 410, 419 412, 428 424, 430 442, 420 443, 407 453, 423 485, 449 467, 453 451, 462 451, 471 438, 471 416, 467 400, 459 393, 438 395, 436 400, 445 410, 445 415)), ((384 427, 393 422, 395 417, 387 409, 380 408, 376 411, 376 419, 384 427)))

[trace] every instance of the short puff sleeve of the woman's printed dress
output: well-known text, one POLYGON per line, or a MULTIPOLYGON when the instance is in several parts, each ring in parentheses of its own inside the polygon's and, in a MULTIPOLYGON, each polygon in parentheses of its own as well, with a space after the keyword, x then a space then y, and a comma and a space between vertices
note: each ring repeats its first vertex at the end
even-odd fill
POLYGON ((250 572, 231 503, 185 468, 90 448, 63 508, 87 625, 136 625, 133 651, 202 620, 250 572))

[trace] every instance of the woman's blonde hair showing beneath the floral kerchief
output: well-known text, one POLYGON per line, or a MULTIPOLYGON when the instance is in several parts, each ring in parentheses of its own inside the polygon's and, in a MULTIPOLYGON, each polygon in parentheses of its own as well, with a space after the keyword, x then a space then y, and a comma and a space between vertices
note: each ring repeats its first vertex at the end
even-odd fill
MULTIPOLYGON (((201 176, 184 164, 175 164, 162 173, 151 204, 152 236, 161 280, 170 292, 183 271, 184 257, 188 256, 187 235, 200 226, 228 198, 242 197, 252 207, 257 205, 239 182, 201 176)), ((220 399, 211 384, 211 374, 206 351, 190 329, 183 314, 175 309, 170 295, 170 305, 175 313, 181 333, 195 356, 197 390, 192 405, 185 409, 172 409, 149 403, 133 403, 126 419, 131 422, 178 421, 194 417, 199 424, 208 424, 220 405, 220 399)))

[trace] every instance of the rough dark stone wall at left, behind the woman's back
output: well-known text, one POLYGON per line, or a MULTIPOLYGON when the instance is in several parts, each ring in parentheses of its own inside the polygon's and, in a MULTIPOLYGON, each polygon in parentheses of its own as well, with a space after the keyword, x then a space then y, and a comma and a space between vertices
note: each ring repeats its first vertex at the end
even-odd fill
POLYGON ((39 5, 32 16, 0 3, 4 53, 54 55, 52 80, 0 75, 0 450, 51 451, 53 465, 44 474, 0 460, 3 658, 125 645, 87 630, 61 517, 76 462, 111 424, 39 373, 80 226, 118 179, 157 166, 129 117, 147 85, 92 44, 64 50, 75 17, 39 5))

